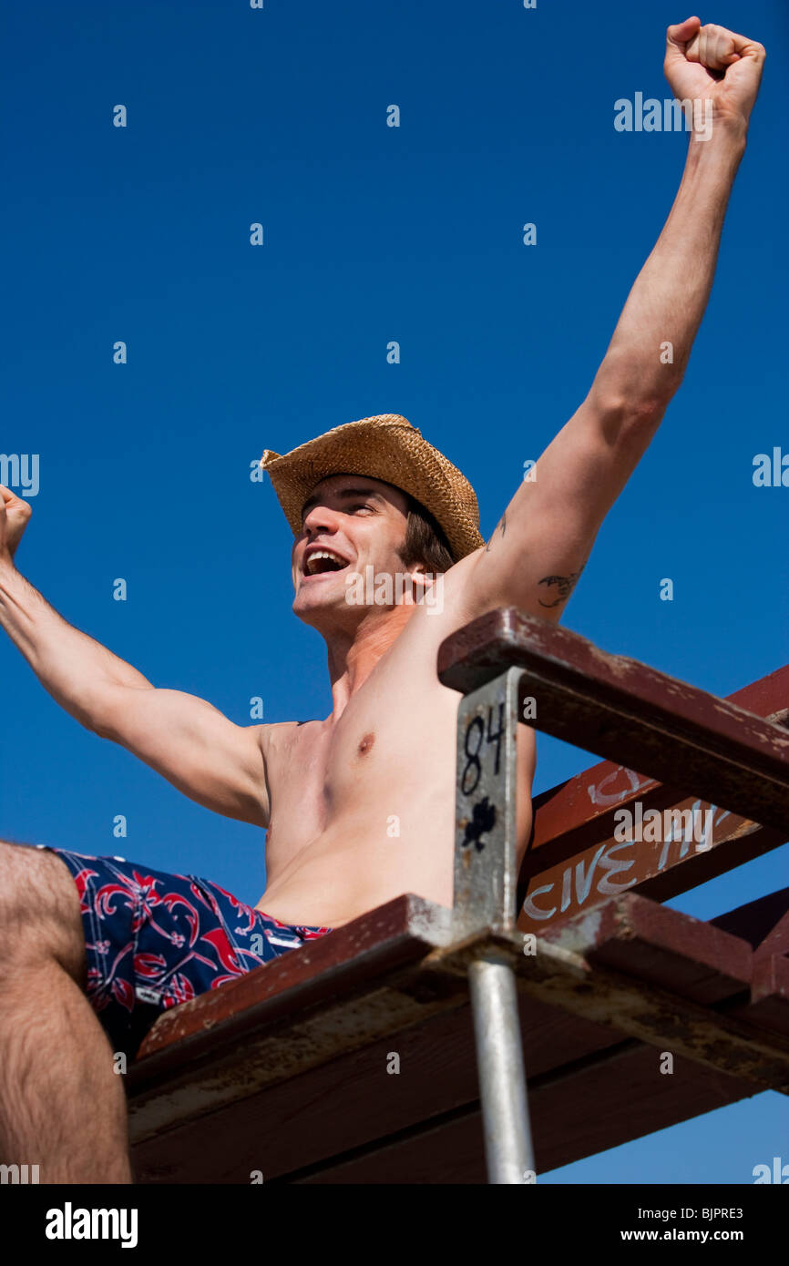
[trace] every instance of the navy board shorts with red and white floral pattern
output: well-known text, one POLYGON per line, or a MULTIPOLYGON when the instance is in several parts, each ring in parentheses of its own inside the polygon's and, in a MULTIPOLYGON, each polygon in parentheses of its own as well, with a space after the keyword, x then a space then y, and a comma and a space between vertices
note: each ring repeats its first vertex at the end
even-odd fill
POLYGON ((157 1017, 315 941, 331 928, 280 923, 218 884, 124 857, 35 844, 63 860, 82 912, 87 999, 113 1051, 133 1058, 157 1017))

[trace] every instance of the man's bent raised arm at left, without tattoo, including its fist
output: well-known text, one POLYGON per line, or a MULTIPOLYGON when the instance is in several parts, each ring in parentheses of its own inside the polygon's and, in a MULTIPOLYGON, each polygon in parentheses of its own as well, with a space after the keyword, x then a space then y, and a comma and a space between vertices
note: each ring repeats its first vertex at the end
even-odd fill
POLYGON ((14 566, 29 517, 29 504, 0 485, 0 625, 44 689, 81 725, 127 747, 184 795, 267 825, 261 727, 236 725, 204 699, 158 690, 67 624, 14 566))

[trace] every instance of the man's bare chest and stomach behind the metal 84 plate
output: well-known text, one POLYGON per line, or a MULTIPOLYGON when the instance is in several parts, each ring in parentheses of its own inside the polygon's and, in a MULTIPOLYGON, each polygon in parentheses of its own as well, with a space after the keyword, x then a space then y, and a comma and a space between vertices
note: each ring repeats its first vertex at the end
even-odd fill
MULTIPOLYGON (((442 617, 415 610, 338 720, 263 728, 271 817, 258 909, 336 928, 403 893, 452 905, 461 696, 436 675, 448 632, 442 617)), ((526 725, 518 767, 519 861, 534 772, 526 725)))

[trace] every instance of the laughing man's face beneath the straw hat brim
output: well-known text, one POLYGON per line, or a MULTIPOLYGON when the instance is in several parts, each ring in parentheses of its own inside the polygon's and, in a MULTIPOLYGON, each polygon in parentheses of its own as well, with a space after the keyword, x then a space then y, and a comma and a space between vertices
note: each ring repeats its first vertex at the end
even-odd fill
POLYGON ((408 500, 390 484, 362 475, 320 480, 304 504, 291 555, 299 619, 319 629, 358 623, 365 608, 348 603, 350 577, 365 576, 370 565, 376 576, 405 571, 398 548, 407 523, 408 500))

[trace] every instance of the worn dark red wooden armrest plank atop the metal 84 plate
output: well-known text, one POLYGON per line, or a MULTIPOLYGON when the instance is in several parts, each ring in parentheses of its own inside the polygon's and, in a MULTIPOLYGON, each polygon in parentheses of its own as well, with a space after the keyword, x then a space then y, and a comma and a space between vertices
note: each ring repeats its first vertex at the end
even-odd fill
POLYGON ((489 611, 438 651, 438 676, 476 689, 524 670, 534 724, 789 834, 789 733, 648 665, 514 609, 489 611))

